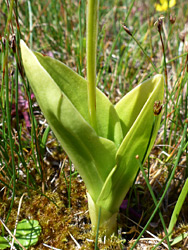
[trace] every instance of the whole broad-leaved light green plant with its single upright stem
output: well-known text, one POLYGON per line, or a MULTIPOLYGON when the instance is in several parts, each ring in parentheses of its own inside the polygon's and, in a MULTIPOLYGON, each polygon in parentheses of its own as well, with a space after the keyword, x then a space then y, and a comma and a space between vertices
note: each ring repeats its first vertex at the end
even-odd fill
POLYGON ((119 207, 154 144, 164 95, 155 75, 116 105, 96 87, 99 0, 87 3, 87 79, 21 41, 25 72, 52 131, 82 176, 92 229, 116 232, 119 207))

